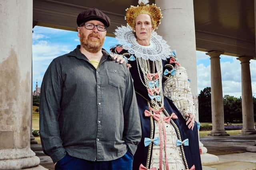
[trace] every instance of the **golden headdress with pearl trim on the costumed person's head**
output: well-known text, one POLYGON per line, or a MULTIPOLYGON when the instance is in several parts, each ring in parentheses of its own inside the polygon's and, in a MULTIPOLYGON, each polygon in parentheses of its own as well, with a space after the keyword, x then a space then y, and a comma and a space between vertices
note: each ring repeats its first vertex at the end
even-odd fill
POLYGON ((130 8, 126 9, 126 16, 124 18, 133 29, 135 29, 135 19, 139 14, 149 15, 154 29, 157 29, 157 26, 160 24, 160 20, 163 18, 160 7, 157 7, 156 4, 149 5, 147 3, 148 0, 139 0, 137 6, 131 5, 130 8))

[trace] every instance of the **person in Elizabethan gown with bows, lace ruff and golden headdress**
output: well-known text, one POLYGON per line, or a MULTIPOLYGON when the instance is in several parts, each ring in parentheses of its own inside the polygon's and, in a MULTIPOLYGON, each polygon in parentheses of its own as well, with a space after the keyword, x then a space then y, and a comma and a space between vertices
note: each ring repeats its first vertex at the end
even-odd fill
POLYGON ((133 170, 202 170, 190 79, 176 51, 155 32, 161 18, 156 4, 139 0, 126 9, 127 26, 115 30, 119 44, 110 47, 130 64, 140 111, 133 170))

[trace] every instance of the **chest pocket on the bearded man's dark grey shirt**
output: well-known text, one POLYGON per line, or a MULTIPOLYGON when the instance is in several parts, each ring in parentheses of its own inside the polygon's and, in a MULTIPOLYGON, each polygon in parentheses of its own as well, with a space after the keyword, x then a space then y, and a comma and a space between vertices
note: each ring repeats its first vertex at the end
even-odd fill
POLYGON ((106 68, 108 84, 117 88, 125 87, 125 74, 123 70, 106 68))

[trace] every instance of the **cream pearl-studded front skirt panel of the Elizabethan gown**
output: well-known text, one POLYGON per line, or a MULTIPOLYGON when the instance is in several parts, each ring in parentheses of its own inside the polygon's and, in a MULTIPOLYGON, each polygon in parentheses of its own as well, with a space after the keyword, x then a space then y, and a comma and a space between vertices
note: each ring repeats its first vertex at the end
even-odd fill
MULTIPOLYGON (((161 111, 160 112, 161 117, 166 117, 164 113, 161 111)), ((162 119, 161 119, 162 121, 162 119)), ((160 123, 162 126, 162 123, 160 123)), ((180 147, 176 147, 176 141, 178 139, 176 131, 174 127, 169 124, 164 122, 165 129, 166 129, 166 152, 167 152, 167 158, 168 158, 168 166, 169 170, 185 170, 185 164, 184 161, 182 160, 182 154, 180 147)), ((161 128, 163 129, 163 128, 161 128)), ((159 126, 158 123, 155 123, 155 135, 154 137, 160 137, 162 135, 162 138, 164 138, 163 131, 161 134, 159 133, 159 126)), ((152 150, 152 158, 151 158, 151 168, 156 168, 157 170, 159 169, 160 163, 162 164, 162 170, 167 170, 166 168, 166 162, 165 162, 165 147, 164 147, 164 141, 162 141, 162 162, 159 162, 160 158, 160 145, 153 146, 152 150)), ((159 169, 160 170, 160 169, 159 169)))

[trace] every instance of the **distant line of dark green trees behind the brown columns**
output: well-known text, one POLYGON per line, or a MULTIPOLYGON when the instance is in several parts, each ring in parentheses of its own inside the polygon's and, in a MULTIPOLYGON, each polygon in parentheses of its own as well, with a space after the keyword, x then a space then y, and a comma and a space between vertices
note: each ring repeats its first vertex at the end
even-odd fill
MULTIPOLYGON (((201 90, 198 96, 200 122, 212 122, 211 88, 201 90)), ((224 122, 242 122, 242 98, 225 95, 223 98, 224 122)), ((254 121, 256 121, 256 98, 253 97, 254 121)))

